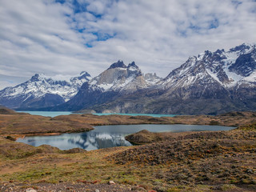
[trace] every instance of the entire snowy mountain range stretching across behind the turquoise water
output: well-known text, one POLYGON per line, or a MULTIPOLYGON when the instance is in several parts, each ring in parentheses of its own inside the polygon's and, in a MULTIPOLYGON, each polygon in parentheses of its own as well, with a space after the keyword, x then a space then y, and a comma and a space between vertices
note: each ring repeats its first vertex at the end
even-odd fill
POLYGON ((206 50, 188 58, 166 78, 142 74, 134 62, 126 66, 122 61, 97 77, 90 78, 84 72, 68 82, 35 74, 28 82, 1 90, 0 104, 21 110, 99 113, 220 114, 256 110, 255 44, 227 51, 206 50))

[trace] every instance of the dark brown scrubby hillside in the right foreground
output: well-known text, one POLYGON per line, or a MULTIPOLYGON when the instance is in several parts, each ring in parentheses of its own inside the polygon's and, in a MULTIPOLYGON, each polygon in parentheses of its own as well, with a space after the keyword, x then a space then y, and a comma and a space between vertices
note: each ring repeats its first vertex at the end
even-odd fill
POLYGON ((166 186, 160 185, 166 190, 159 191, 167 191, 170 186, 184 185, 216 186, 212 190, 222 190, 217 186, 231 184, 234 188, 250 186, 250 189, 228 191, 254 191, 255 138, 255 130, 190 133, 135 146, 113 154, 108 159, 117 165, 134 166, 138 169, 143 167, 143 171, 152 175, 150 178, 169 183, 166 186), (158 169, 154 170, 152 167, 158 169))

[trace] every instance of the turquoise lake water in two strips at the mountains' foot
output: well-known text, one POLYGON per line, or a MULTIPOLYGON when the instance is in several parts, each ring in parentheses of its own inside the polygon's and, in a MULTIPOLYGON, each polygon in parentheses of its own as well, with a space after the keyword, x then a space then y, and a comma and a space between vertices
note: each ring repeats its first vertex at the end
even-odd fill
MULTIPOLYGON (((58 115, 68 115, 72 114, 70 111, 17 111, 17 112, 23 112, 28 114, 35 114, 35 115, 42 115, 46 117, 56 117, 58 115)), ((96 114, 96 115, 109 115, 109 114, 96 114)), ((138 115, 145 115, 145 116, 151 116, 154 118, 161 118, 161 117, 174 117, 175 114, 121 114, 121 115, 130 115, 130 116, 138 116, 138 115)))

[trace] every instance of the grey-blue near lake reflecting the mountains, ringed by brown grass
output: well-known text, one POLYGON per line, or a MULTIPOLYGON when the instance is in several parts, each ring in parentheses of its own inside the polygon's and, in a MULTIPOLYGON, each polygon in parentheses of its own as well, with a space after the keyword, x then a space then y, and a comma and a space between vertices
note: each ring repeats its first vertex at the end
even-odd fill
POLYGON ((231 130, 230 126, 197 126, 197 125, 119 125, 119 126, 94 126, 94 130, 75 134, 60 134, 53 136, 33 136, 18 138, 17 142, 24 142, 31 146, 43 144, 57 146, 61 150, 75 147, 84 150, 98 150, 114 146, 131 146, 125 136, 140 130, 151 132, 182 132, 203 130, 231 130))

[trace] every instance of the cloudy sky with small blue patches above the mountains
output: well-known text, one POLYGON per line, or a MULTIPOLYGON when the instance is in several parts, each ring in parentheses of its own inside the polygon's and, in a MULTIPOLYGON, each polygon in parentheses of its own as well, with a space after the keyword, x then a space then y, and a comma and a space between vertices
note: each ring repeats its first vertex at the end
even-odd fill
POLYGON ((135 62, 164 78, 204 50, 256 42, 255 0, 0 0, 0 89, 135 62))

